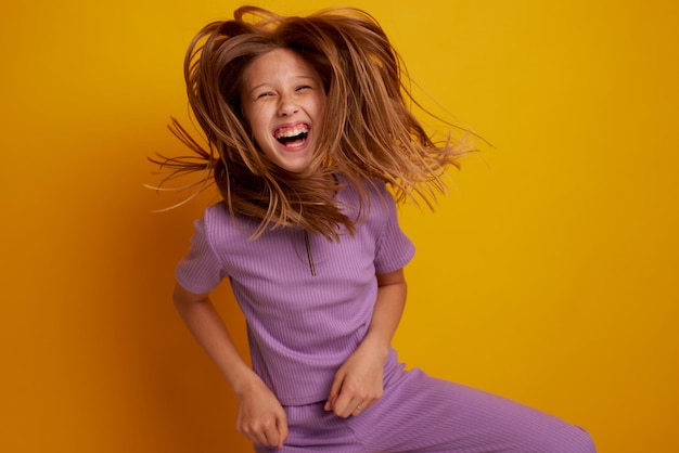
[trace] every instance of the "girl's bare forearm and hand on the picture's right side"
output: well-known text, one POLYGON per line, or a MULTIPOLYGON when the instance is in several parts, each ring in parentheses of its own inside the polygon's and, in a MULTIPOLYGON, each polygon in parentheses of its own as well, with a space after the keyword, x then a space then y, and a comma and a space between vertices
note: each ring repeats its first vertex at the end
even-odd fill
POLYGON ((360 415, 384 390, 384 361, 403 314, 407 285, 403 270, 379 274, 377 300, 363 341, 340 367, 332 384, 326 411, 341 417, 360 415))

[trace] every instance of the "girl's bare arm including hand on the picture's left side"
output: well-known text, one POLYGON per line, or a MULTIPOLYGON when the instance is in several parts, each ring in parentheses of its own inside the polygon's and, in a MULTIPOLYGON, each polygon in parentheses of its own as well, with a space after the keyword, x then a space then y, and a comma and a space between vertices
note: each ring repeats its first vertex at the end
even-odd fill
POLYGON ((239 432, 256 443, 282 448, 287 437, 285 412, 271 390, 241 358, 208 295, 191 293, 177 284, 174 301, 189 331, 239 399, 239 432))

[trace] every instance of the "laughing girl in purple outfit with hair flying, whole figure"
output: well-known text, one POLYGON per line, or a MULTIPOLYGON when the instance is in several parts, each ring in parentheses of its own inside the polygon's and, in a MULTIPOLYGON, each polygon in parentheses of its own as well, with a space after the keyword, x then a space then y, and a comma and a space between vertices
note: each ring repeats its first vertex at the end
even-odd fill
POLYGON ((206 26, 185 60, 207 138, 196 157, 223 197, 195 222, 175 305, 239 400, 257 452, 593 452, 584 430, 405 371, 390 346, 414 248, 395 199, 430 199, 464 145, 410 113, 384 31, 357 10, 281 17, 244 7, 206 26), (390 186, 387 191, 386 185, 390 186), (209 293, 229 279, 251 368, 209 293))

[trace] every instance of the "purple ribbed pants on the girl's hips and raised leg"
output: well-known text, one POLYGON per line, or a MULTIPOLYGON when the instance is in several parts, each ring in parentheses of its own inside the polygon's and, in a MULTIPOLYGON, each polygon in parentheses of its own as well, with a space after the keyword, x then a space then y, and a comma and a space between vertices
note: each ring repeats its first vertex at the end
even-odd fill
POLYGON ((384 397, 357 417, 337 417, 323 402, 285 410, 284 448, 256 452, 595 452, 576 426, 419 370, 387 378, 384 397))

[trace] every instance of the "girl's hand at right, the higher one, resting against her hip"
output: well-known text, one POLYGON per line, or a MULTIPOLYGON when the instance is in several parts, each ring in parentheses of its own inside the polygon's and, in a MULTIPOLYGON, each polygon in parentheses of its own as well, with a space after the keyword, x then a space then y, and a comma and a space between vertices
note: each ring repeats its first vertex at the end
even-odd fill
POLYGON ((335 374, 325 411, 347 418, 358 416, 384 392, 386 352, 368 342, 361 344, 335 374))

